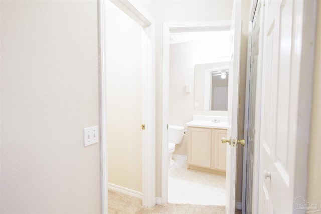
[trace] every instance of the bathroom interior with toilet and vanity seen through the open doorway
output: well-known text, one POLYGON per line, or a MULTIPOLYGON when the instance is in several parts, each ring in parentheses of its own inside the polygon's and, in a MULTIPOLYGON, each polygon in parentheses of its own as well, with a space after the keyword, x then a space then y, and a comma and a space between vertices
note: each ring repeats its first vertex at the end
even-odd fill
POLYGON ((218 141, 226 137, 229 41, 229 31, 170 34, 169 203, 225 205, 225 145, 218 141), (170 143, 175 134, 183 139, 170 143), (202 146, 194 149, 193 141, 202 146), (198 158, 208 165, 196 167, 198 158))

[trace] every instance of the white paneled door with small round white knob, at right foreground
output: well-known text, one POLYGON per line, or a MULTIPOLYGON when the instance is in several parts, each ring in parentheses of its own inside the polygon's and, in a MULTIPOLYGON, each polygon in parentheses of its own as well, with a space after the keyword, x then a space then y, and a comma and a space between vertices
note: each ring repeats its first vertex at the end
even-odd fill
POLYGON ((311 4, 265 1, 259 213, 293 213, 295 198, 305 197, 311 4))

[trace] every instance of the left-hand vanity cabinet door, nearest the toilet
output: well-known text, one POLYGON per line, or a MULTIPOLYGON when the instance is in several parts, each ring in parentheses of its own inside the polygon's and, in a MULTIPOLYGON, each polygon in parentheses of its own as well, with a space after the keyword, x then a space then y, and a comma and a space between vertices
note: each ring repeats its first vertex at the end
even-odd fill
POLYGON ((211 168, 211 135, 211 129, 189 129, 189 164, 211 168))

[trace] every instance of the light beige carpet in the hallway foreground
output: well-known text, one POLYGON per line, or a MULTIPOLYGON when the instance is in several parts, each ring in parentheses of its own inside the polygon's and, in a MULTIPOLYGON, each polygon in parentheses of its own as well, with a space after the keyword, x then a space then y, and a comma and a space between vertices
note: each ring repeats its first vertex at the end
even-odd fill
POLYGON ((109 190, 109 208, 110 214, 145 214, 145 213, 175 213, 175 214, 224 214, 225 206, 216 205, 191 205, 191 204, 165 204, 156 205, 153 208, 145 208, 142 206, 141 199, 121 194, 109 190))

